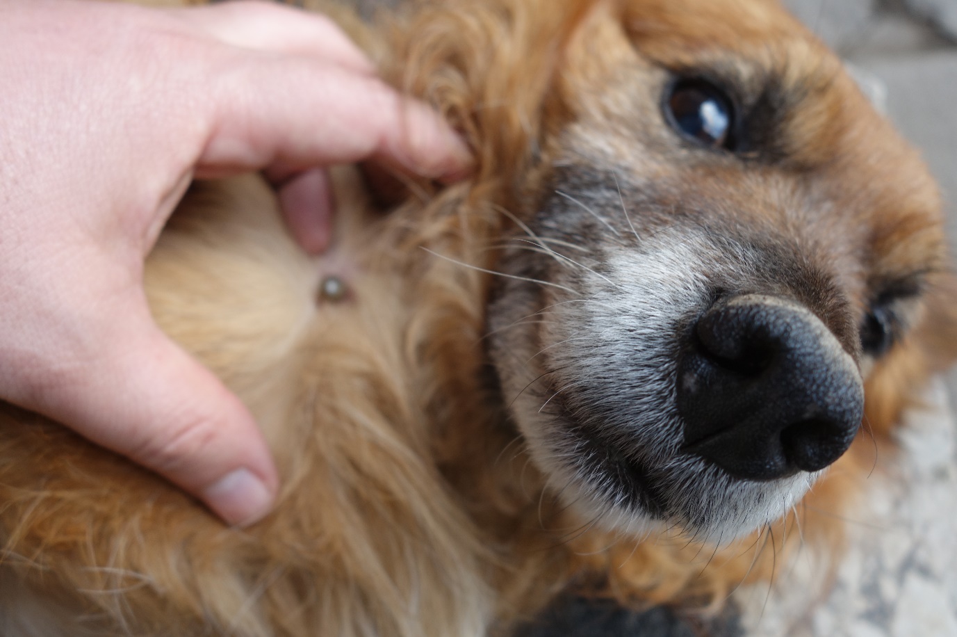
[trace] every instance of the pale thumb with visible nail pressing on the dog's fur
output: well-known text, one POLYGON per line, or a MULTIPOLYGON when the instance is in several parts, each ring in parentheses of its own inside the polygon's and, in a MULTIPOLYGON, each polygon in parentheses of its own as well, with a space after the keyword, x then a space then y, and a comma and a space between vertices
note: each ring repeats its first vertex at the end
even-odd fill
POLYGON ((37 411, 153 469, 231 524, 269 512, 278 489, 252 415, 152 322, 110 326, 109 347, 57 375, 37 411))

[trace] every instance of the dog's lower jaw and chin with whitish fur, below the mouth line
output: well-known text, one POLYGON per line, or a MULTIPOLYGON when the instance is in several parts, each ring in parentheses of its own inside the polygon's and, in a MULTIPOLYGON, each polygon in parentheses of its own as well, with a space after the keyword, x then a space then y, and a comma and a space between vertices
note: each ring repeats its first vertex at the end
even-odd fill
POLYGON ((641 441, 590 427, 557 397, 544 410, 514 411, 563 506, 622 536, 667 532, 723 544, 790 512, 822 473, 742 480, 679 450, 650 457, 641 441))

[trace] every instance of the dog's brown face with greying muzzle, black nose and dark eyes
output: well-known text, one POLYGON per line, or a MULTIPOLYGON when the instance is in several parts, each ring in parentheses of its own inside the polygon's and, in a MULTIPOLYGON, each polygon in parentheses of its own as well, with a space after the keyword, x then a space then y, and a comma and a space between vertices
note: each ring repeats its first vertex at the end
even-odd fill
POLYGON ((599 5, 558 67, 490 306, 504 399, 586 515, 742 535, 855 438, 945 260, 935 188, 771 2, 599 5))

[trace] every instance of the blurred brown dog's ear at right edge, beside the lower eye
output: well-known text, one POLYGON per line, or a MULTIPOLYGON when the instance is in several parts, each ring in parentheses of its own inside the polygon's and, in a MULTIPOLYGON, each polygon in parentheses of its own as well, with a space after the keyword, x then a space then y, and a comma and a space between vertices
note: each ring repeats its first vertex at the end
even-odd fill
POLYGON ((864 385, 865 418, 886 434, 901 412, 919 403, 927 380, 957 361, 957 273, 934 277, 914 330, 879 360, 864 385))

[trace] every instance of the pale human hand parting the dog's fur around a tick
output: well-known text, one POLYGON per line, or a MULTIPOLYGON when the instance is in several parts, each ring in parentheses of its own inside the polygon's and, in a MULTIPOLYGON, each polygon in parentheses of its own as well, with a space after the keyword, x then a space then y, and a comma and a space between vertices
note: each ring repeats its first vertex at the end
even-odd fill
POLYGON ((268 3, 0 0, 0 398, 166 476, 231 524, 269 512, 252 415, 154 324, 144 260, 190 180, 264 171, 302 247, 323 167, 451 180, 470 158, 329 20, 268 3))

